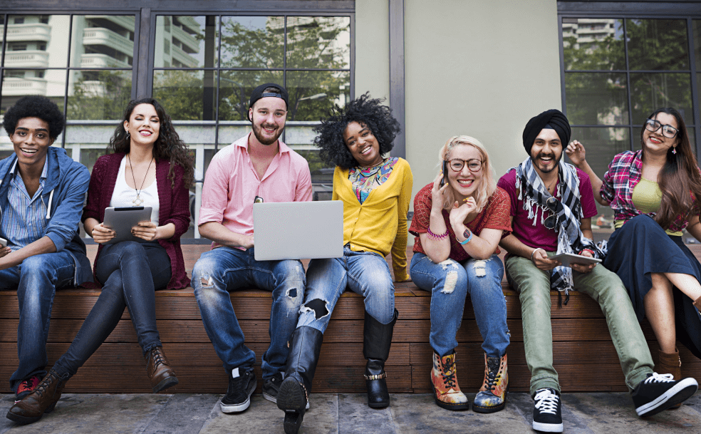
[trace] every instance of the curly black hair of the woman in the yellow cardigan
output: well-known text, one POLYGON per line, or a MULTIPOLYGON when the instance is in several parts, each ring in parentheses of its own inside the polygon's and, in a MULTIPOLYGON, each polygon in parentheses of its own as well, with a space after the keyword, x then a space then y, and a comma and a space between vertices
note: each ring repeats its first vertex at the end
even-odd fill
POLYGON ((327 165, 339 166, 343 169, 358 166, 350 154, 343 133, 349 123, 357 122, 370 128, 380 145, 380 155, 392 150, 393 140, 400 133, 398 120, 392 116, 392 110, 382 105, 383 99, 370 98, 369 93, 360 95, 350 101, 345 107, 334 105, 329 110, 328 118, 321 120, 314 130, 318 134, 314 139, 321 152, 319 156, 327 165))

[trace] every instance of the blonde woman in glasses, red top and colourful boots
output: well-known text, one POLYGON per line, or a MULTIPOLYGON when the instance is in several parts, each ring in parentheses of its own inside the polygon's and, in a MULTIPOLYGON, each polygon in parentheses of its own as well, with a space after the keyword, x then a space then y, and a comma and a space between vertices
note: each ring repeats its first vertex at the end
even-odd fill
POLYGON ((442 170, 414 198, 409 228, 416 237, 412 280, 431 291, 435 403, 448 410, 467 410, 469 406, 455 368, 455 336, 469 294, 484 339, 485 364, 484 382, 472 409, 494 413, 504 408, 509 385, 504 264, 497 257, 497 244, 512 229, 511 200, 497 187, 489 154, 479 140, 467 135, 452 137, 440 148, 438 157, 442 170))

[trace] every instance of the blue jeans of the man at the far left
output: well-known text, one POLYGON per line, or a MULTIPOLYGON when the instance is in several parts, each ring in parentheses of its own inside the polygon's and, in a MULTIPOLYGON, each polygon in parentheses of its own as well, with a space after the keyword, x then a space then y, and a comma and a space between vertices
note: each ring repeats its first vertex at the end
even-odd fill
POLYGON ((68 251, 37 254, 19 265, 0 270, 0 289, 17 288, 19 366, 10 377, 10 387, 31 376, 46 375, 46 339, 56 289, 73 284, 76 263, 68 251))

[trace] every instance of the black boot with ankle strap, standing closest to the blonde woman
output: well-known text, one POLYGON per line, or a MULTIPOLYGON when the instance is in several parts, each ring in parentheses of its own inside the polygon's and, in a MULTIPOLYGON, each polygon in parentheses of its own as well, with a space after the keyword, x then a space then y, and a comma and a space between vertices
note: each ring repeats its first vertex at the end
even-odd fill
POLYGON ((363 333, 363 356, 368 359, 365 366, 365 385, 368 386, 368 405, 370 408, 385 408, 390 405, 390 393, 387 391, 387 373, 385 361, 390 355, 392 332, 399 312, 390 324, 382 324, 365 312, 363 333))

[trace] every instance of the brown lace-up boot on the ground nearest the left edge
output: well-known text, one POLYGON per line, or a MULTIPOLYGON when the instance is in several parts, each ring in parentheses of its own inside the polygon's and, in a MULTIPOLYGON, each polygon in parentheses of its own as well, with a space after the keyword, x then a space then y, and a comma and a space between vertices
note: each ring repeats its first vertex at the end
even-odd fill
POLYGON ((41 419, 44 413, 51 413, 61 398, 66 379, 61 379, 56 371, 48 371, 41 383, 29 395, 12 405, 7 412, 7 418, 16 423, 26 425, 41 419))

